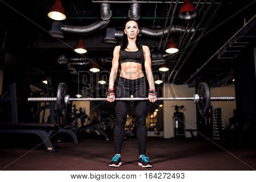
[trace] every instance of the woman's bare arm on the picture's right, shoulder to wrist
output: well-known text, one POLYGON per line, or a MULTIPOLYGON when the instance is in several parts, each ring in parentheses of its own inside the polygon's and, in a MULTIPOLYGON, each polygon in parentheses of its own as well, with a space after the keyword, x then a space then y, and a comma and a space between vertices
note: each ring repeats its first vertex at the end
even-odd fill
POLYGON ((151 70, 151 58, 150 58, 150 49, 147 46, 143 46, 144 52, 144 66, 147 75, 147 80, 150 89, 155 89, 155 81, 151 70))

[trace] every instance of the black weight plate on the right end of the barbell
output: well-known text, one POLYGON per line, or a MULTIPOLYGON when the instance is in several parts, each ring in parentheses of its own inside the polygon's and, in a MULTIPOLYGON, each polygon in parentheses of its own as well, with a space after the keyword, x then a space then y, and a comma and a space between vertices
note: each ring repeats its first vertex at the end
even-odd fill
POLYGON ((210 89, 206 82, 201 82, 199 84, 197 94, 200 98, 199 103, 197 104, 200 115, 208 114, 210 110, 210 89))

